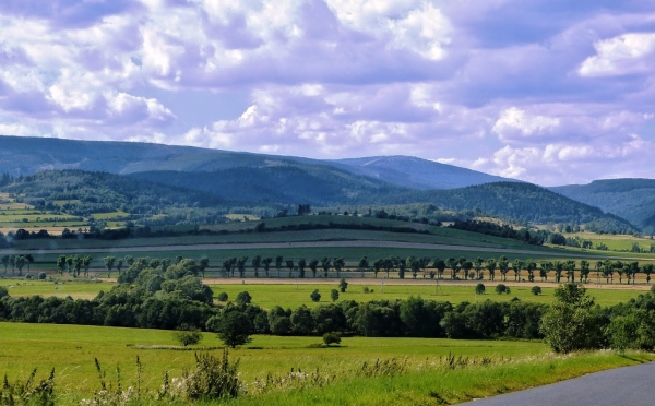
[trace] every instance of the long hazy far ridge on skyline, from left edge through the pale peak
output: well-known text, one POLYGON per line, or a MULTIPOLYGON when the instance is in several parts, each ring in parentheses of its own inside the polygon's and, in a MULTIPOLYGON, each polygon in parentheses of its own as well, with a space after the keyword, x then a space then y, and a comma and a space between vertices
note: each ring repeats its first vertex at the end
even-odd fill
POLYGON ((331 176, 330 171, 338 169, 358 177, 370 177, 378 182, 417 190, 452 189, 508 180, 406 156, 320 160, 148 143, 0 136, 0 174, 12 176, 62 169, 111 174, 216 172, 278 166, 312 167, 311 171, 319 177, 321 171, 331 176))

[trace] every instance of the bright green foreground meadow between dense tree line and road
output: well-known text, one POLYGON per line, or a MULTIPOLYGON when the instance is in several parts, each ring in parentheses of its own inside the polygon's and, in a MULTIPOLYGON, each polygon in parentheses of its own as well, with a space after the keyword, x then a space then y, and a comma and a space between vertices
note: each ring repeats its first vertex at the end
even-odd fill
MULTIPOLYGON (((312 347, 319 342, 318 337, 254 336, 248 347, 231 350, 230 357, 239 359, 240 379, 246 387, 251 387, 251 394, 227 404, 416 405, 434 404, 436 395, 455 403, 652 359, 646 355, 621 357, 611 353, 555 357, 538 342, 346 337, 341 347, 312 347), (444 368, 444 357, 449 355, 487 357, 490 363, 444 368), (358 377, 364 362, 371 365, 377 359, 396 359, 407 368, 392 375, 358 377), (291 370, 319 370, 321 377, 332 380, 322 389, 300 383, 261 395, 252 390, 255 379, 266 374, 284 377, 291 370)), ((215 348, 221 343, 213 334, 204 334, 204 341, 192 350, 154 349, 175 346, 171 333, 0 323, 0 370, 10 381, 26 379, 34 368, 38 370, 37 379, 41 379, 55 368, 58 404, 68 405, 99 391, 96 358, 106 371, 108 384, 117 386, 119 368, 126 387, 135 385, 139 357, 141 386, 145 392, 162 384, 165 371, 174 378, 184 369, 192 369, 194 350, 215 348)))

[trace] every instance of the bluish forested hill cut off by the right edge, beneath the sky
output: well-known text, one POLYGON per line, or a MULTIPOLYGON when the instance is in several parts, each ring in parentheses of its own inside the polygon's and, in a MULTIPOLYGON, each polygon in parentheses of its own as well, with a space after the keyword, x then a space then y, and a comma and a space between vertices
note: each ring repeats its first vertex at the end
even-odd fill
POLYGON ((549 189, 600 207, 640 227, 655 227, 654 179, 606 179, 549 189))

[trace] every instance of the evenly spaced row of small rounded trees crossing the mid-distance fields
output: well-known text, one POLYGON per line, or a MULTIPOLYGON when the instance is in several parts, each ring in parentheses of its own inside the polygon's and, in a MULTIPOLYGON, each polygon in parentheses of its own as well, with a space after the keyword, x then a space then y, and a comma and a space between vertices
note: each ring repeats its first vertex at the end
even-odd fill
MULTIPOLYGON (((111 271, 111 264, 114 262, 107 262, 108 256, 105 259, 105 263, 108 266, 108 271, 111 271)), ((114 261, 114 260, 111 260, 114 261)), ((118 264, 120 264, 120 261, 118 264)), ((154 260, 157 261, 157 260, 154 260)), ((166 260, 163 260, 166 261, 166 260)), ((204 277, 204 272, 209 267, 209 259, 201 259, 201 270, 204 277)), ((120 266, 117 265, 120 273, 120 266)), ((362 256, 356 266, 347 266, 343 258, 327 258, 307 260, 305 258, 293 260, 284 259, 283 255, 273 256, 261 256, 254 255, 252 259, 248 256, 231 256, 221 263, 221 271, 224 277, 238 277, 243 278, 247 275, 247 270, 252 271, 252 275, 257 278, 260 276, 271 277, 273 270, 276 271, 277 277, 283 277, 282 272, 285 271, 285 275, 288 277, 300 277, 305 278, 311 273, 312 277, 322 275, 323 277, 341 277, 341 273, 344 271, 356 271, 364 277, 365 273, 372 272, 374 277, 378 277, 380 272, 383 272, 386 277, 391 277, 391 273, 397 273, 397 277, 404 279, 408 274, 413 278, 417 278, 419 275, 422 278, 429 277, 431 279, 439 278, 443 279, 446 275, 450 279, 473 279, 479 280, 486 276, 489 280, 496 280, 497 273, 500 274, 500 278, 503 282, 508 280, 508 274, 513 276, 514 280, 524 280, 524 277, 529 282, 535 282, 539 278, 541 282, 547 282, 551 273, 555 274, 555 282, 561 283, 563 278, 567 282, 575 282, 577 276, 579 282, 590 282, 592 274, 592 263, 587 260, 581 260, 579 262, 574 260, 567 261, 547 261, 543 260, 536 262, 534 260, 520 260, 513 261, 508 260, 507 256, 501 255, 498 259, 490 258, 484 260, 483 258, 476 258, 471 261, 464 256, 461 258, 448 258, 448 259, 432 259, 429 256, 388 256, 370 261, 368 256, 362 256), (250 260, 250 261, 249 261, 250 260), (450 272, 446 274, 446 270, 450 272), (262 273, 263 272, 263 273, 262 273), (525 272, 525 274, 523 273, 525 272), (576 275, 577 274, 577 275, 576 275)), ((599 279, 602 276, 606 278, 607 283, 614 283, 614 275, 619 276, 619 283, 623 283, 623 276, 627 277, 628 284, 634 283, 636 275, 642 273, 646 275, 646 282, 651 282, 651 274, 653 273, 653 264, 640 265, 639 262, 627 262, 621 261, 597 261, 595 264, 596 278, 599 279)))

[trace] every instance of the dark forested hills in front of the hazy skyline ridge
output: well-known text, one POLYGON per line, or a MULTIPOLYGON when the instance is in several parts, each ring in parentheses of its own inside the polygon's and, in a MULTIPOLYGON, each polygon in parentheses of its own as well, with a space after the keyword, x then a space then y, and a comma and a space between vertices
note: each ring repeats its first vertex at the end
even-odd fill
MULTIPOLYGON (((452 190, 402 189, 334 167, 287 165, 230 168, 213 172, 150 171, 119 176, 81 170, 45 171, 0 179, 2 192, 15 193, 36 207, 62 207, 69 214, 122 211, 130 214, 170 212, 179 207, 281 207, 357 205, 370 207, 420 203, 449 211, 546 224, 586 225, 597 231, 631 232, 632 226, 597 207, 575 202, 531 183, 496 182, 452 190)), ((392 212, 390 212, 392 213, 392 212)))

